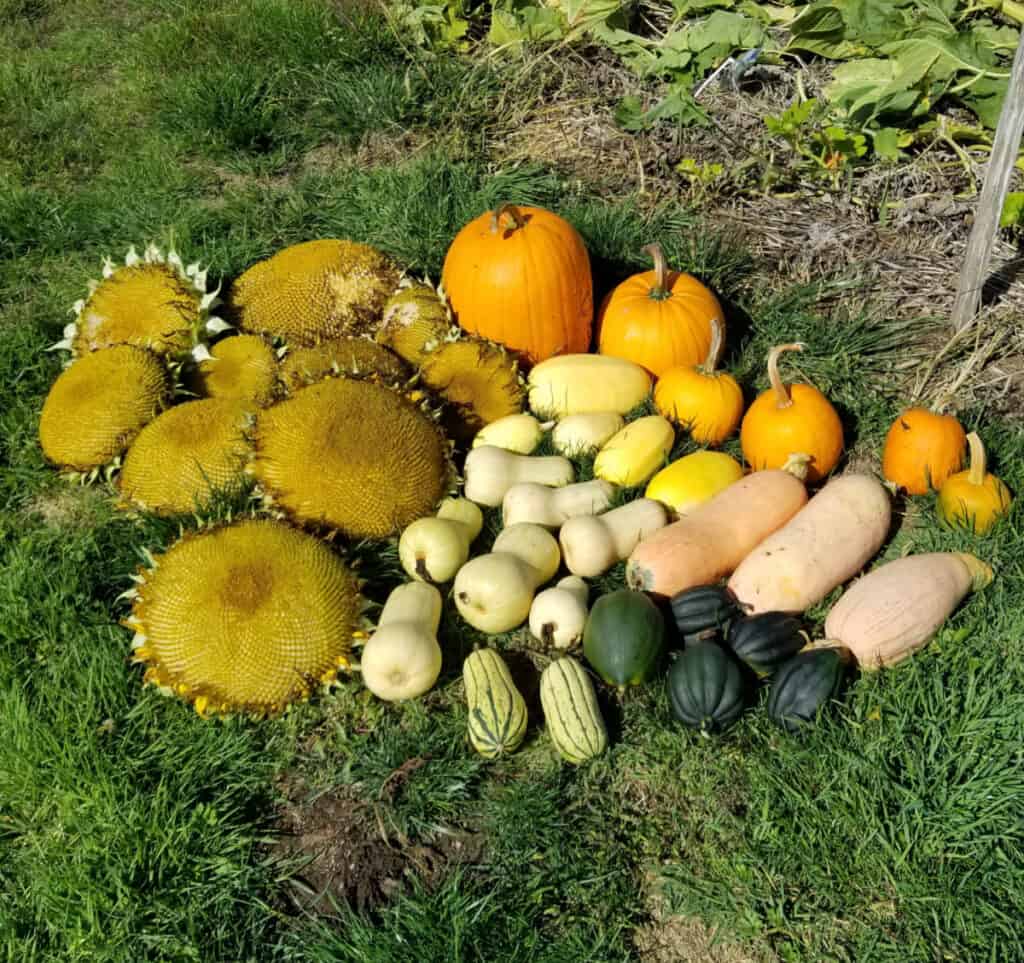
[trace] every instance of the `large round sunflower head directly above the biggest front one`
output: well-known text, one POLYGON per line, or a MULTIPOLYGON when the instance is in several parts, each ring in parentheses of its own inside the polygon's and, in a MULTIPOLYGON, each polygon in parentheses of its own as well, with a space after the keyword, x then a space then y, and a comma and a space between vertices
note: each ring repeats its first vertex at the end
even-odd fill
POLYGON ((449 445, 406 395, 328 378, 259 412, 252 471, 298 521, 381 538, 430 514, 447 489, 449 445))

